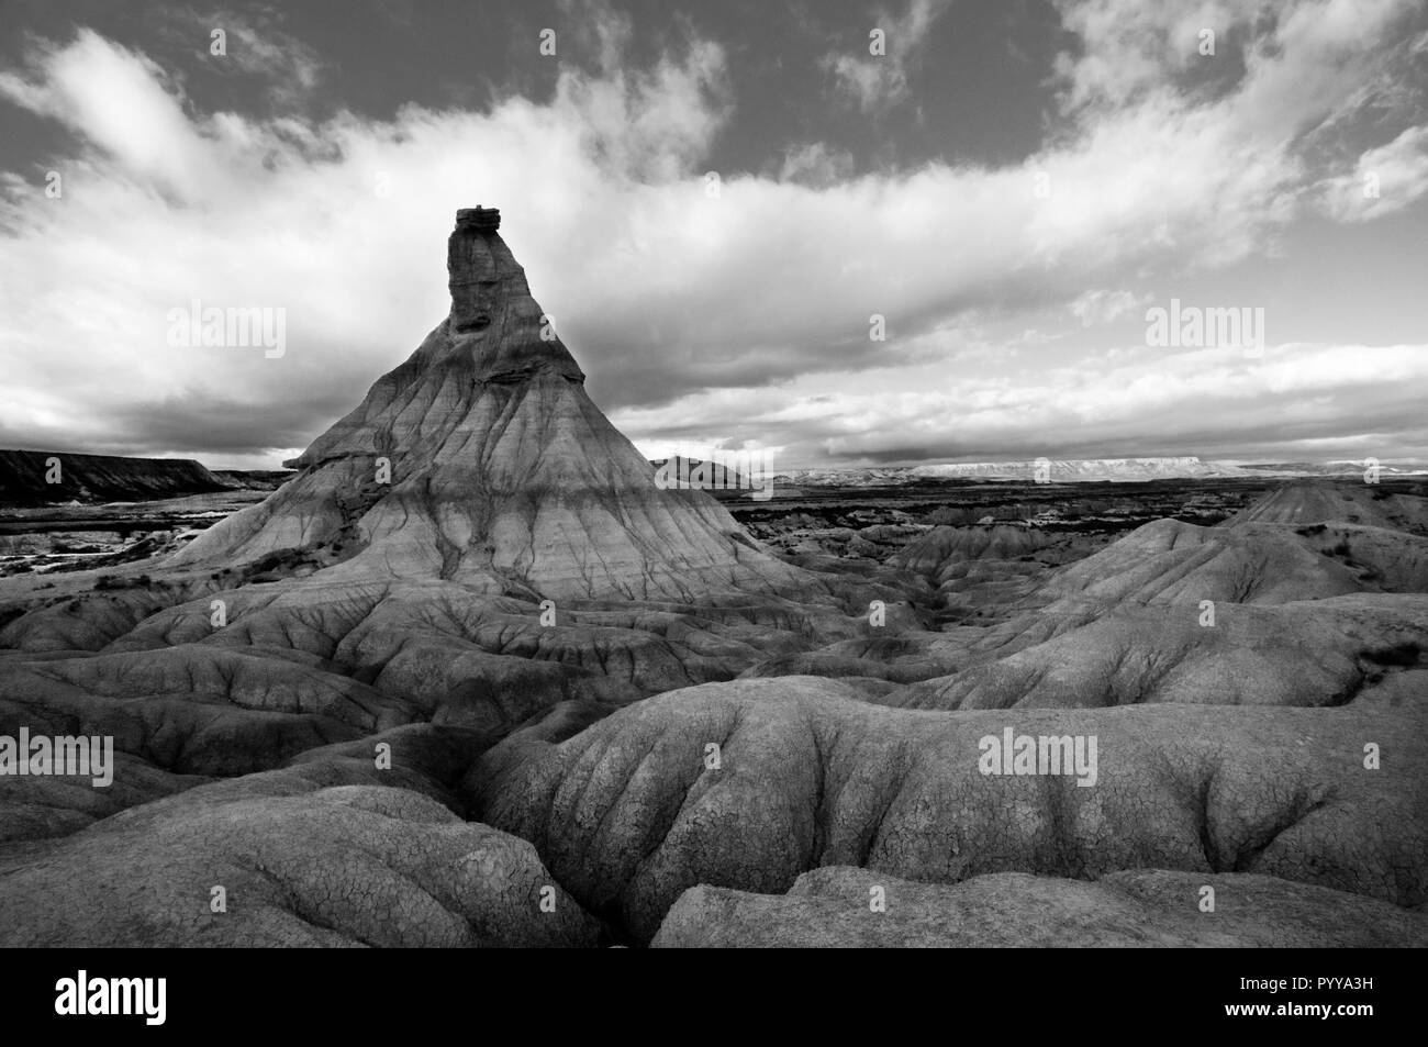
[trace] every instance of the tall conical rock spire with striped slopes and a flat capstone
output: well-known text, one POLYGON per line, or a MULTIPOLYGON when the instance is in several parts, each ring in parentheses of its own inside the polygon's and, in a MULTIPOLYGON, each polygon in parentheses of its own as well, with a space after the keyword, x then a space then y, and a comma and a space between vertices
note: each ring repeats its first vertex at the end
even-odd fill
POLYGON ((176 561, 303 550, 334 580, 440 577, 557 597, 817 586, 705 493, 654 483, 585 394, 498 227, 494 209, 457 213, 447 319, 288 463, 296 479, 176 561))

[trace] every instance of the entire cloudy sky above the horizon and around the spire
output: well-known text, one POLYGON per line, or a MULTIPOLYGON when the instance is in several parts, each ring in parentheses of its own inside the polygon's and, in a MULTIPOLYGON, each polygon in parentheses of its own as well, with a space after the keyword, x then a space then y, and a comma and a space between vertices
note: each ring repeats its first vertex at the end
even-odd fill
POLYGON ((0 447, 276 467, 446 316, 483 204, 651 457, 1428 460, 1422 0, 0 26, 0 447), (193 301, 281 356, 174 344, 193 301), (1172 301, 1245 326, 1158 339, 1172 301))

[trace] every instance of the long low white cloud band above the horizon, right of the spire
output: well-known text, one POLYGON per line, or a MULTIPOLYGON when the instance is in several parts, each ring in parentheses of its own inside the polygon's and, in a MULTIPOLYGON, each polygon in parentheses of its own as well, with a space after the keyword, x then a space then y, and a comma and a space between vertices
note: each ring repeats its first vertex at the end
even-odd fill
POLYGON ((1379 459, 1428 451, 1419 390, 1428 346, 1287 343, 1238 349, 1118 347, 1074 366, 928 367, 713 390, 614 416, 641 447, 670 433, 774 449, 781 467, 828 460, 1121 457, 1158 454, 1379 459), (690 419, 718 419, 718 427, 690 419), (688 429, 685 429, 688 426, 688 429), (1334 434, 1325 440, 1325 434, 1334 434))

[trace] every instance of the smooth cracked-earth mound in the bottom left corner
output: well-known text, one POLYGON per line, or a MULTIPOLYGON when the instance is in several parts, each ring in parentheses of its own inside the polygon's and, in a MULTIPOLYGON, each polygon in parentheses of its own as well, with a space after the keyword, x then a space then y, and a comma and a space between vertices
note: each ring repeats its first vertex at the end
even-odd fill
POLYGON ((528 843, 440 801, 460 746, 384 737, 394 771, 313 753, 31 846, 0 866, 0 946, 598 944, 528 843))

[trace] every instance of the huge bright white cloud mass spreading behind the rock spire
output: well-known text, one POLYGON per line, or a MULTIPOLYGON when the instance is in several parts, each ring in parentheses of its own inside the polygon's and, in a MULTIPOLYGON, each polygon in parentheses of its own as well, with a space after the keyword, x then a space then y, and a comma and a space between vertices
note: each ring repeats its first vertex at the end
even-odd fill
MULTIPOLYGON (((503 236, 591 393, 637 436, 987 457, 995 441, 1034 450, 1015 424, 1168 433, 1158 359, 1105 386, 1121 397, 1120 429, 1102 431, 1105 419, 1077 409, 1105 404, 1101 350, 1061 346, 1062 370, 1038 379, 1021 354, 1057 334, 1022 323, 1035 337, 987 344, 968 324, 1051 309, 1084 333, 1125 314, 1144 293, 1137 274, 1264 250, 1322 199, 1305 131, 1365 104, 1412 6, 1328 0, 1241 19, 1244 69, 1212 93, 1177 90, 1162 53, 1198 11, 1165 6, 1142 24, 1132 7, 1068 9, 1082 50, 1058 64, 1067 121, 1022 161, 855 174, 835 147, 803 143, 777 170, 725 171, 718 197, 703 170, 737 113, 724 49, 687 36, 635 66, 620 16, 600 23, 597 66, 563 63, 548 100, 406 106, 391 120, 204 113, 137 50, 89 30, 40 43, 27 67, 0 73, 0 100, 77 146, 0 176, 0 431, 37 447, 291 454, 444 316, 444 237, 456 209, 481 203, 503 209, 503 236), (1122 37, 1138 50, 1111 70, 1122 37), (44 193, 51 164, 59 199, 44 193), (286 309, 286 356, 169 346, 169 310, 196 299, 286 309), (873 314, 887 343, 870 340, 873 314), (840 383, 885 399, 870 406, 840 383), (942 399, 915 399, 928 389, 942 399), (905 424, 878 436, 868 417, 905 424), (695 419, 713 421, 693 431, 695 419)), ((1421 139, 1402 141, 1374 163, 1417 170, 1421 139)), ((1241 367, 1228 380, 1250 397, 1275 374, 1241 367)), ((1381 420, 1347 391, 1342 403, 1397 424, 1387 406, 1381 420)), ((1364 430, 1331 407, 1294 423, 1364 430)))

